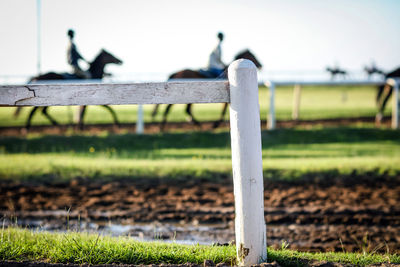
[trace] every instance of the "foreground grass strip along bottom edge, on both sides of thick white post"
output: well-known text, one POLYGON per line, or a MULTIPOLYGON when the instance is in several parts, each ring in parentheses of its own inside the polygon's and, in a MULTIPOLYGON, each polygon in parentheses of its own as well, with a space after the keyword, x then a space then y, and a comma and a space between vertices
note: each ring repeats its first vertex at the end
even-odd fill
MULTIPOLYGON (((138 242, 129 237, 88 233, 49 233, 19 228, 0 230, 0 260, 76 264, 236 264, 235 246, 180 245, 138 242)), ((330 261, 364 266, 400 263, 400 255, 375 253, 303 253, 268 249, 268 261, 281 266, 301 266, 310 261, 330 261)))

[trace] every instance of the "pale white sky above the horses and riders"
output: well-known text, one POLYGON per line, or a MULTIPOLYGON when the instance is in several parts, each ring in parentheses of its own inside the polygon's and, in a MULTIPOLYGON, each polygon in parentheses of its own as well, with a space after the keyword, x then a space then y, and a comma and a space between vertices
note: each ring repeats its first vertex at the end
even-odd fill
MULTIPOLYGON (((225 33, 223 60, 250 48, 266 70, 400 65, 400 0, 42 0, 42 72, 69 71, 66 32, 81 54, 105 48, 118 73, 205 66, 225 33)), ((37 72, 36 0, 0 0, 0 75, 37 72)), ((84 65, 82 65, 84 66, 84 65)))

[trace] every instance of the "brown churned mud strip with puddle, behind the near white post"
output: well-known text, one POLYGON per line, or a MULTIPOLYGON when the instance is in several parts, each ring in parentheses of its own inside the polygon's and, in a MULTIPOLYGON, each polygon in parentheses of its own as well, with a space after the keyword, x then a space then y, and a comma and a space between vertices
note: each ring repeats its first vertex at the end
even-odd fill
MULTIPOLYGON (((267 242, 300 251, 399 253, 399 204, 400 177, 266 180, 267 242)), ((139 240, 234 240, 231 179, 1 182, 0 216, 6 226, 17 222, 43 230, 100 231, 139 240)))

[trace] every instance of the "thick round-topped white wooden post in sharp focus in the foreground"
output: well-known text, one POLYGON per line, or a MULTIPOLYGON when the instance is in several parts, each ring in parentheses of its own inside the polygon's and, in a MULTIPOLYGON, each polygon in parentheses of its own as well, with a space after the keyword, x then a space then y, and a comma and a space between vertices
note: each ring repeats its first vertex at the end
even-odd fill
POLYGON ((228 76, 236 248, 239 264, 247 266, 267 258, 257 68, 239 59, 228 76))

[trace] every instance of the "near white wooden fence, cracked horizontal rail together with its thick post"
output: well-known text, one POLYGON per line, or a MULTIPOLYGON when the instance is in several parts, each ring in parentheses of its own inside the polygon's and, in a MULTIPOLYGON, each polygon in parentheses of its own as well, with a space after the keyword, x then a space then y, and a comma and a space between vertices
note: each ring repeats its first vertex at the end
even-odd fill
POLYGON ((240 265, 266 260, 257 68, 239 59, 228 81, 0 86, 0 106, 230 103, 235 234, 240 265))

